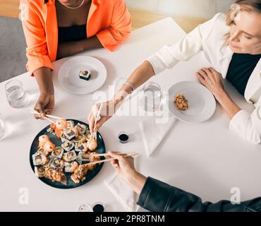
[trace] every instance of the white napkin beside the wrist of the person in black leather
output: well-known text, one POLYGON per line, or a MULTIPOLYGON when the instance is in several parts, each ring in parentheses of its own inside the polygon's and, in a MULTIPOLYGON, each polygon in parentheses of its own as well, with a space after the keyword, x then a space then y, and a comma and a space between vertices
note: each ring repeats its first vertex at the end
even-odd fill
POLYGON ((117 174, 104 181, 104 184, 128 212, 138 210, 137 195, 125 182, 121 181, 117 174))

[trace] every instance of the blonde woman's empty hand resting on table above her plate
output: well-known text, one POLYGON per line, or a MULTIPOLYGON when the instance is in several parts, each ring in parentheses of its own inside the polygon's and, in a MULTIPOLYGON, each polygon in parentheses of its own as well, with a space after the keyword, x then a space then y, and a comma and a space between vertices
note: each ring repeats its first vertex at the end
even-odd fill
POLYGON ((212 68, 203 68, 197 71, 196 76, 202 85, 210 90, 210 92, 217 98, 224 93, 224 86, 221 83, 221 74, 212 68))

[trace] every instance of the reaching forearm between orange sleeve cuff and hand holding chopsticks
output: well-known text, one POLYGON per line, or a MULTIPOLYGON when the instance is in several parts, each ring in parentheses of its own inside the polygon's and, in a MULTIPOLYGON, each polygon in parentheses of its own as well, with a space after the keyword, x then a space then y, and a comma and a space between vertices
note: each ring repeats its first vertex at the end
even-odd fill
POLYGON ((40 89, 40 93, 54 94, 54 85, 51 78, 51 69, 43 67, 34 71, 34 76, 40 89))

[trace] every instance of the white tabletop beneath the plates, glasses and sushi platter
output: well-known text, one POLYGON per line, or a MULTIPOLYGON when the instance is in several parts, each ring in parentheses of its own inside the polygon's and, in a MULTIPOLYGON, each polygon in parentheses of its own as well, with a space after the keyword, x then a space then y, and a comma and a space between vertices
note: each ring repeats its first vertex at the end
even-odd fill
MULTIPOLYGON (((173 44, 185 32, 171 18, 160 20, 133 31, 130 39, 116 52, 97 49, 79 55, 97 57, 107 67, 108 77, 99 91, 108 93, 115 78, 128 78, 130 73, 164 44, 173 44)), ((73 95, 61 88, 57 71, 67 59, 54 62, 54 86, 56 107, 53 114, 66 118, 87 121, 87 114, 94 102, 93 94, 73 95), (77 111, 75 111, 77 109, 77 111)), ((195 71, 210 66, 202 53, 181 62, 174 69, 154 76, 162 90, 168 90, 179 81, 196 81, 195 71)), ((34 78, 28 73, 17 76, 23 82, 33 107, 39 95, 34 78)), ((111 165, 104 164, 101 172, 91 182, 76 189, 59 190, 42 183, 35 177, 29 164, 30 145, 36 134, 49 124, 36 121, 28 107, 13 109, 8 105, 4 85, 0 84, 0 112, 6 118, 6 136, 0 141, 0 211, 75 211, 82 203, 101 201, 107 211, 124 211, 104 180, 114 174, 111 165), (20 204, 23 188, 29 194, 28 205, 20 204)), ((225 83, 225 88, 235 102, 248 111, 253 106, 245 102, 234 88, 225 83)), ((186 124, 176 121, 151 157, 147 157, 142 143, 139 123, 145 117, 114 116, 100 129, 107 150, 136 151, 140 153, 138 170, 150 177, 189 191, 203 201, 219 201, 231 198, 231 189, 238 187, 241 200, 261 195, 260 146, 242 141, 229 131, 229 118, 217 105, 213 117, 202 124, 186 124), (116 134, 130 133, 130 142, 120 144, 116 134)))

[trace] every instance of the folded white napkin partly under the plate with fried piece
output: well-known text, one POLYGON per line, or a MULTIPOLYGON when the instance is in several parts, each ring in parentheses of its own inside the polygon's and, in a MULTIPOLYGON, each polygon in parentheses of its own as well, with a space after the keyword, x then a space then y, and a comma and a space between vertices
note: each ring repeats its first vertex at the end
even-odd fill
POLYGON ((176 120, 175 117, 169 117, 168 121, 164 124, 159 123, 155 118, 140 121, 140 131, 147 157, 152 155, 176 120))

